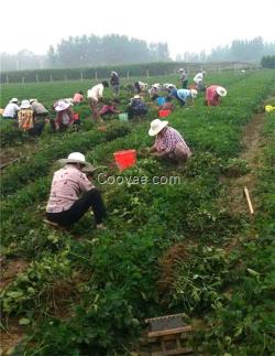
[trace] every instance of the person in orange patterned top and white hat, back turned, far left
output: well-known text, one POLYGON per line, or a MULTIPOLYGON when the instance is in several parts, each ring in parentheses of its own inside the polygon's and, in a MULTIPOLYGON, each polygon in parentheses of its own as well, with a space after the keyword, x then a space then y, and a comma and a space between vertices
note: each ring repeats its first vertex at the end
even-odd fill
POLYGON ((18 122, 19 129, 28 131, 30 136, 41 136, 45 126, 44 119, 36 119, 29 100, 22 100, 18 111, 18 122))

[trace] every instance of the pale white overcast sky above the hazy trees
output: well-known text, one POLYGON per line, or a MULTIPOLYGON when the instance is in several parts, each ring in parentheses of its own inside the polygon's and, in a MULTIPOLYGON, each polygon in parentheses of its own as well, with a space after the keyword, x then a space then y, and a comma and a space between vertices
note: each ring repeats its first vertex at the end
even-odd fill
POLYGON ((0 31, 0 52, 45 54, 69 35, 118 33, 167 42, 175 57, 235 39, 275 42, 275 0, 3 0, 0 31))

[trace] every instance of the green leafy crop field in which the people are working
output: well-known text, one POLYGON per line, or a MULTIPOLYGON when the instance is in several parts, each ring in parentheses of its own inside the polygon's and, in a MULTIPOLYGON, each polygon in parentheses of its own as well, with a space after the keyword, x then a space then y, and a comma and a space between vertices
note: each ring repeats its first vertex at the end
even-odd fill
MULTIPOLYGON (((160 80, 178 79, 147 79, 160 80)), ((228 89, 220 107, 204 106, 200 94, 168 117, 193 151, 180 171, 145 153, 153 143, 147 130, 154 107, 141 122, 108 120, 102 132, 81 105, 79 131, 46 128, 31 142, 0 122, 1 154, 20 158, 1 176, 1 327, 6 338, 20 336, 6 348, 10 355, 146 353, 144 320, 174 313, 185 313, 194 325, 195 355, 274 355, 275 111, 263 108, 275 105, 275 73, 211 74, 207 83, 228 89), (242 138, 255 116, 263 120, 256 163, 240 157, 253 147, 242 138), (112 161, 122 149, 135 149, 138 163, 120 173, 112 161), (107 230, 92 230, 89 214, 68 230, 43 222, 56 160, 73 151, 85 153, 106 181, 114 177, 113 184, 96 177, 107 230), (232 193, 232 181, 248 174, 254 217, 229 202, 242 195, 232 193), (147 184, 135 184, 133 176, 145 176, 147 184), (152 184, 154 176, 178 180, 152 184), (8 278, 13 266, 20 268, 8 278)), ((50 107, 91 85, 3 85, 1 106, 16 96, 50 107)), ((122 90, 120 109, 130 97, 122 90)))

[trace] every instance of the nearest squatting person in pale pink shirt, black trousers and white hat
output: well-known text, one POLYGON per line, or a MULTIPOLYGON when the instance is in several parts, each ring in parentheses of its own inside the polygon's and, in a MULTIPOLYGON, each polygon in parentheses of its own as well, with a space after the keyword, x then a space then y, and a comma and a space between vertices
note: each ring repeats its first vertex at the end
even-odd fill
POLYGON ((102 222, 106 208, 101 194, 87 177, 95 168, 86 162, 85 155, 80 152, 70 153, 67 159, 59 160, 59 163, 64 166, 53 176, 46 207, 47 219, 62 226, 69 226, 78 222, 91 207, 96 227, 105 228, 102 222))

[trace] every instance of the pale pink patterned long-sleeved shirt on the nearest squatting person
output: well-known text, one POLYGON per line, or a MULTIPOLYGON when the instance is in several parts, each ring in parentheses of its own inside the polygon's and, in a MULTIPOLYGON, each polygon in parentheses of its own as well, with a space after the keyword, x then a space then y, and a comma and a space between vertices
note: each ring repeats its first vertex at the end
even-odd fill
POLYGON ((94 185, 85 173, 72 164, 66 164, 54 173, 46 212, 61 213, 69 209, 84 192, 91 188, 94 185))

